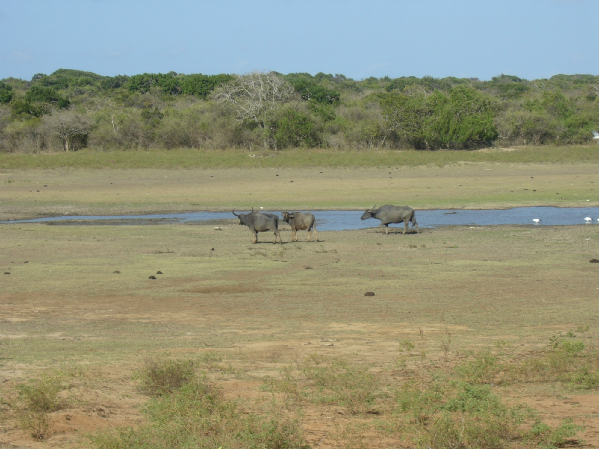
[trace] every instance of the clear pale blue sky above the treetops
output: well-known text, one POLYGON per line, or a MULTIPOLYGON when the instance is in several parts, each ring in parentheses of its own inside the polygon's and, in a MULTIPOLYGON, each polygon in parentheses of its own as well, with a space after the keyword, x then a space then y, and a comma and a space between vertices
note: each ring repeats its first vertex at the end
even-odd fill
POLYGON ((0 79, 599 74, 598 0, 0 0, 0 79))

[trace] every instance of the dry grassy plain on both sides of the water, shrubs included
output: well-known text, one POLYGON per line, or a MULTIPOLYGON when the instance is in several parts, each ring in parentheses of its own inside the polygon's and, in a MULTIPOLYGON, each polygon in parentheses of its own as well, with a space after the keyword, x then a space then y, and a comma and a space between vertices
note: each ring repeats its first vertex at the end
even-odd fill
MULTIPOLYGON (((0 212, 596 206, 596 173, 11 168, 0 212)), ((281 227, 0 225, 0 447, 599 444, 595 225, 281 227)))

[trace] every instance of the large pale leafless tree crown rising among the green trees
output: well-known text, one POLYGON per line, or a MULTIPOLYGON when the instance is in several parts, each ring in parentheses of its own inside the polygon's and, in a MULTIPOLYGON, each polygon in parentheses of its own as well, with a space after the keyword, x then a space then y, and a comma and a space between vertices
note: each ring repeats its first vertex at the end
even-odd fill
POLYGON ((212 95, 219 104, 232 107, 240 122, 252 120, 264 128, 265 116, 277 106, 291 101, 294 88, 274 72, 252 72, 236 76, 212 95))

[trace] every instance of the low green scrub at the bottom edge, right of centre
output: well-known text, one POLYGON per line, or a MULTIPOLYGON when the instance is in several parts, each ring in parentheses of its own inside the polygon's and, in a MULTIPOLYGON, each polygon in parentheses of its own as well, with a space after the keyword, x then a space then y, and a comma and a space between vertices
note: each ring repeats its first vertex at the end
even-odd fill
POLYGON ((489 386, 442 377, 412 379, 394 393, 394 414, 383 428, 422 449, 505 448, 524 443, 562 447, 583 430, 571 420, 551 427, 524 405, 506 405, 489 386), (534 420, 533 424, 530 424, 534 420))

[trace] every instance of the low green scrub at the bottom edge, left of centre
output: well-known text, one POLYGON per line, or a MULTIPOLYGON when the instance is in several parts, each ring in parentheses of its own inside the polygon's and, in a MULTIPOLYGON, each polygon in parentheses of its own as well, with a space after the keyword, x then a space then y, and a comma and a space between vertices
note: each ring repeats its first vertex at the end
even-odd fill
POLYGON ((277 409, 244 411, 203 377, 152 399, 146 415, 147 423, 135 429, 110 429, 91 436, 93 447, 309 448, 297 421, 277 409))

